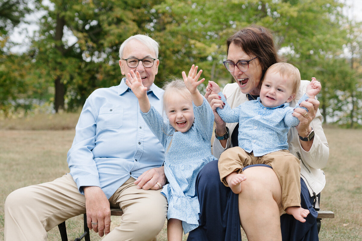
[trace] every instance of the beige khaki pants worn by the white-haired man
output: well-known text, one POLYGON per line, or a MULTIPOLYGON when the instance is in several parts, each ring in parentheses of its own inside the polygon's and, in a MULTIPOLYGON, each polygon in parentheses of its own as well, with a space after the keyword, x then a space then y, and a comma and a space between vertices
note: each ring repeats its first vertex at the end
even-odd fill
MULTIPOLYGON (((103 241, 156 240, 167 216, 161 190, 136 189, 130 178, 111 198, 111 207, 123 210, 121 225, 103 241)), ((47 240, 47 231, 85 212, 85 198, 73 177, 66 174, 51 182, 20 188, 5 201, 5 241, 47 240)), ((90 231, 92 232, 92 231, 90 231)))

